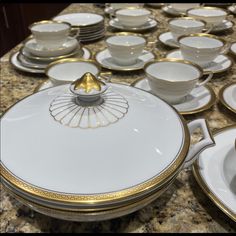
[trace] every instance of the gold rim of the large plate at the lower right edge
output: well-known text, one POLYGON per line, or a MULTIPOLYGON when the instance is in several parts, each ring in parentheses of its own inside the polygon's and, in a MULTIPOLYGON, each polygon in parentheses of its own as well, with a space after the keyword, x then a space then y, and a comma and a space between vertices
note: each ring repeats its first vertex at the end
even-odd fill
MULTIPOLYGON (((230 125, 222 129, 219 129, 213 134, 213 136, 235 127, 236 125, 230 125)), ((218 206, 227 216, 229 216, 233 221, 236 222, 235 213, 232 212, 228 207, 226 207, 224 203, 207 186, 207 183, 204 181, 203 177, 200 174, 200 166, 198 160, 196 160, 195 163, 193 164, 192 171, 197 183, 199 184, 203 192, 216 204, 216 206, 218 206)))

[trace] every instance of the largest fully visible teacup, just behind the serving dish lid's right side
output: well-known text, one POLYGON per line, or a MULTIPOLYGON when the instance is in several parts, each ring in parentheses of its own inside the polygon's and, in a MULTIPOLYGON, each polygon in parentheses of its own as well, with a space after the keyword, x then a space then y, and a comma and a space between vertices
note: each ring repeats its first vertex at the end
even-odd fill
POLYGON ((171 104, 181 103, 195 87, 203 86, 213 76, 210 73, 200 82, 203 76, 201 67, 175 58, 151 61, 144 70, 152 92, 171 104))

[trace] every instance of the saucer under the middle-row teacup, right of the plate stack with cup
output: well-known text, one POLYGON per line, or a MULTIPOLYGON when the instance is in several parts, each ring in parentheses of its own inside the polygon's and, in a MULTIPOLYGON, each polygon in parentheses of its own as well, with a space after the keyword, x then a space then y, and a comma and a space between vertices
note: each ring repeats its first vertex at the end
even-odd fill
POLYGON ((141 70, 143 69, 144 65, 147 62, 149 62, 150 60, 154 58, 155 58, 155 55, 152 52, 143 50, 141 56, 138 57, 137 63, 135 63, 134 65, 120 66, 113 62, 113 59, 108 49, 104 49, 95 55, 95 60, 98 62, 100 66, 106 69, 116 70, 116 71, 141 70))

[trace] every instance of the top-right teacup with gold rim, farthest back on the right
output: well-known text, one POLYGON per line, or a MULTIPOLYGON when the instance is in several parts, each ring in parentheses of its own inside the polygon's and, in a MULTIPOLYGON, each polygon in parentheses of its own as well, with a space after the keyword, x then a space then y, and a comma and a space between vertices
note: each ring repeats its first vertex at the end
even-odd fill
POLYGON ((207 26, 216 26, 226 19, 227 12, 217 7, 197 7, 187 10, 187 15, 195 19, 206 21, 207 26))

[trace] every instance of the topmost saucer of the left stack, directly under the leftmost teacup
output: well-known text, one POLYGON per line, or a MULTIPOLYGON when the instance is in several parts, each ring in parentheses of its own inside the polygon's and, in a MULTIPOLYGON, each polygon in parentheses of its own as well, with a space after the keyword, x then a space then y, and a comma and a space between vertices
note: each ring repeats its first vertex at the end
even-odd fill
POLYGON ((37 44, 35 39, 30 39, 25 43, 25 48, 35 56, 39 57, 56 57, 68 54, 79 46, 77 39, 68 38, 66 42, 59 48, 47 49, 37 44))

